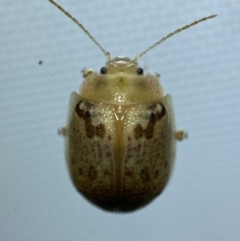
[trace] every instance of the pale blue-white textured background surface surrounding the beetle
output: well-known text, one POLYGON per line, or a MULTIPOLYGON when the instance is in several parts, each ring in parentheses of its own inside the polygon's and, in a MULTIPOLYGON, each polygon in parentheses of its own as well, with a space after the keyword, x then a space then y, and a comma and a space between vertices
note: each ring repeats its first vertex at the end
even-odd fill
POLYGON ((0 240, 240 240, 240 2, 59 0, 112 57, 140 61, 173 96, 174 175, 149 206, 104 212, 72 187, 57 129, 99 49, 48 1, 0 0, 0 240), (43 64, 39 65, 38 61, 43 64))

